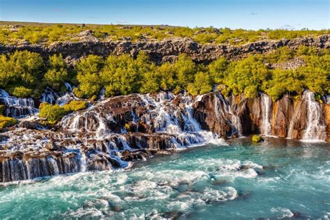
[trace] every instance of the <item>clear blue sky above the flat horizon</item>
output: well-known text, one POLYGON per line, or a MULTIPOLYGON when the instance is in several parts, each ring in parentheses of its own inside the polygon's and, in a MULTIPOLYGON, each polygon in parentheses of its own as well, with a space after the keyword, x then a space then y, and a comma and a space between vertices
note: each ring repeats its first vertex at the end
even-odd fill
POLYGON ((329 29, 329 0, 0 0, 0 20, 329 29))

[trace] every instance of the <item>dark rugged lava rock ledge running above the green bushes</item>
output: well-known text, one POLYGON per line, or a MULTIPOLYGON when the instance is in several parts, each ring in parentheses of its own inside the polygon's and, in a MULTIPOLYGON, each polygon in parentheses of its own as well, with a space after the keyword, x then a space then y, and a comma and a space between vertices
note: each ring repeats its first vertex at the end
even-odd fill
POLYGON ((297 48, 299 45, 319 48, 330 48, 330 36, 324 35, 315 38, 296 38, 293 40, 265 40, 252 42, 239 47, 231 45, 201 45, 190 38, 168 38, 162 41, 107 41, 82 40, 81 42, 58 42, 52 45, 0 45, 0 53, 14 52, 15 50, 29 50, 38 52, 45 58, 52 54, 63 54, 69 62, 81 56, 96 54, 100 56, 131 54, 136 56, 144 51, 157 63, 173 61, 178 54, 184 53, 198 63, 210 63, 220 56, 230 60, 246 57, 248 54, 271 52, 279 47, 288 46, 297 48))

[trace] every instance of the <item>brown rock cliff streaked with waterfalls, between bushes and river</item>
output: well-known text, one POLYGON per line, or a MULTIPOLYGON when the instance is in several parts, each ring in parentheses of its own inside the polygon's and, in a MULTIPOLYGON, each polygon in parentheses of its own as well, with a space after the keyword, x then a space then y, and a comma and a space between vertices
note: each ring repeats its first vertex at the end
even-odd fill
MULTIPOLYGON (((45 100, 55 97, 46 92, 45 100)), ((52 102, 63 100, 58 95, 52 102)), ((36 109, 6 94, 1 102, 12 109, 8 115, 15 109, 36 109)), ((155 153, 253 133, 329 141, 329 112, 329 104, 317 102, 310 91, 299 100, 285 96, 277 102, 265 94, 254 99, 225 98, 219 92, 198 97, 133 94, 91 103, 52 129, 38 124, 37 116, 26 117, 34 111, 22 111, 17 116, 21 123, 0 136, 0 182, 125 168, 155 153)))

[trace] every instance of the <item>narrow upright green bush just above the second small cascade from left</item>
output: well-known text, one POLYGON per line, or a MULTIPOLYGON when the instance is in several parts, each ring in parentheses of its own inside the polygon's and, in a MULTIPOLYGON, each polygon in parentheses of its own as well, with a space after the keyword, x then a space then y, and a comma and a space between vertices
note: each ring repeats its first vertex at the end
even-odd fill
POLYGON ((59 91, 68 81, 68 66, 63 60, 62 54, 49 56, 47 72, 44 76, 45 84, 52 89, 59 91))

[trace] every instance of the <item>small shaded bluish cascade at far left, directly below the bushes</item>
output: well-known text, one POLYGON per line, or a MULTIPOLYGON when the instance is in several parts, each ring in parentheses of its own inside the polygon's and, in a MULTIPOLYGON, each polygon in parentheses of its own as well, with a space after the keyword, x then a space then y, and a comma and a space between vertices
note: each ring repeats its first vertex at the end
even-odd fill
POLYGON ((6 106, 5 115, 13 118, 22 118, 38 113, 31 97, 21 98, 10 96, 6 91, 0 89, 0 102, 6 106))

